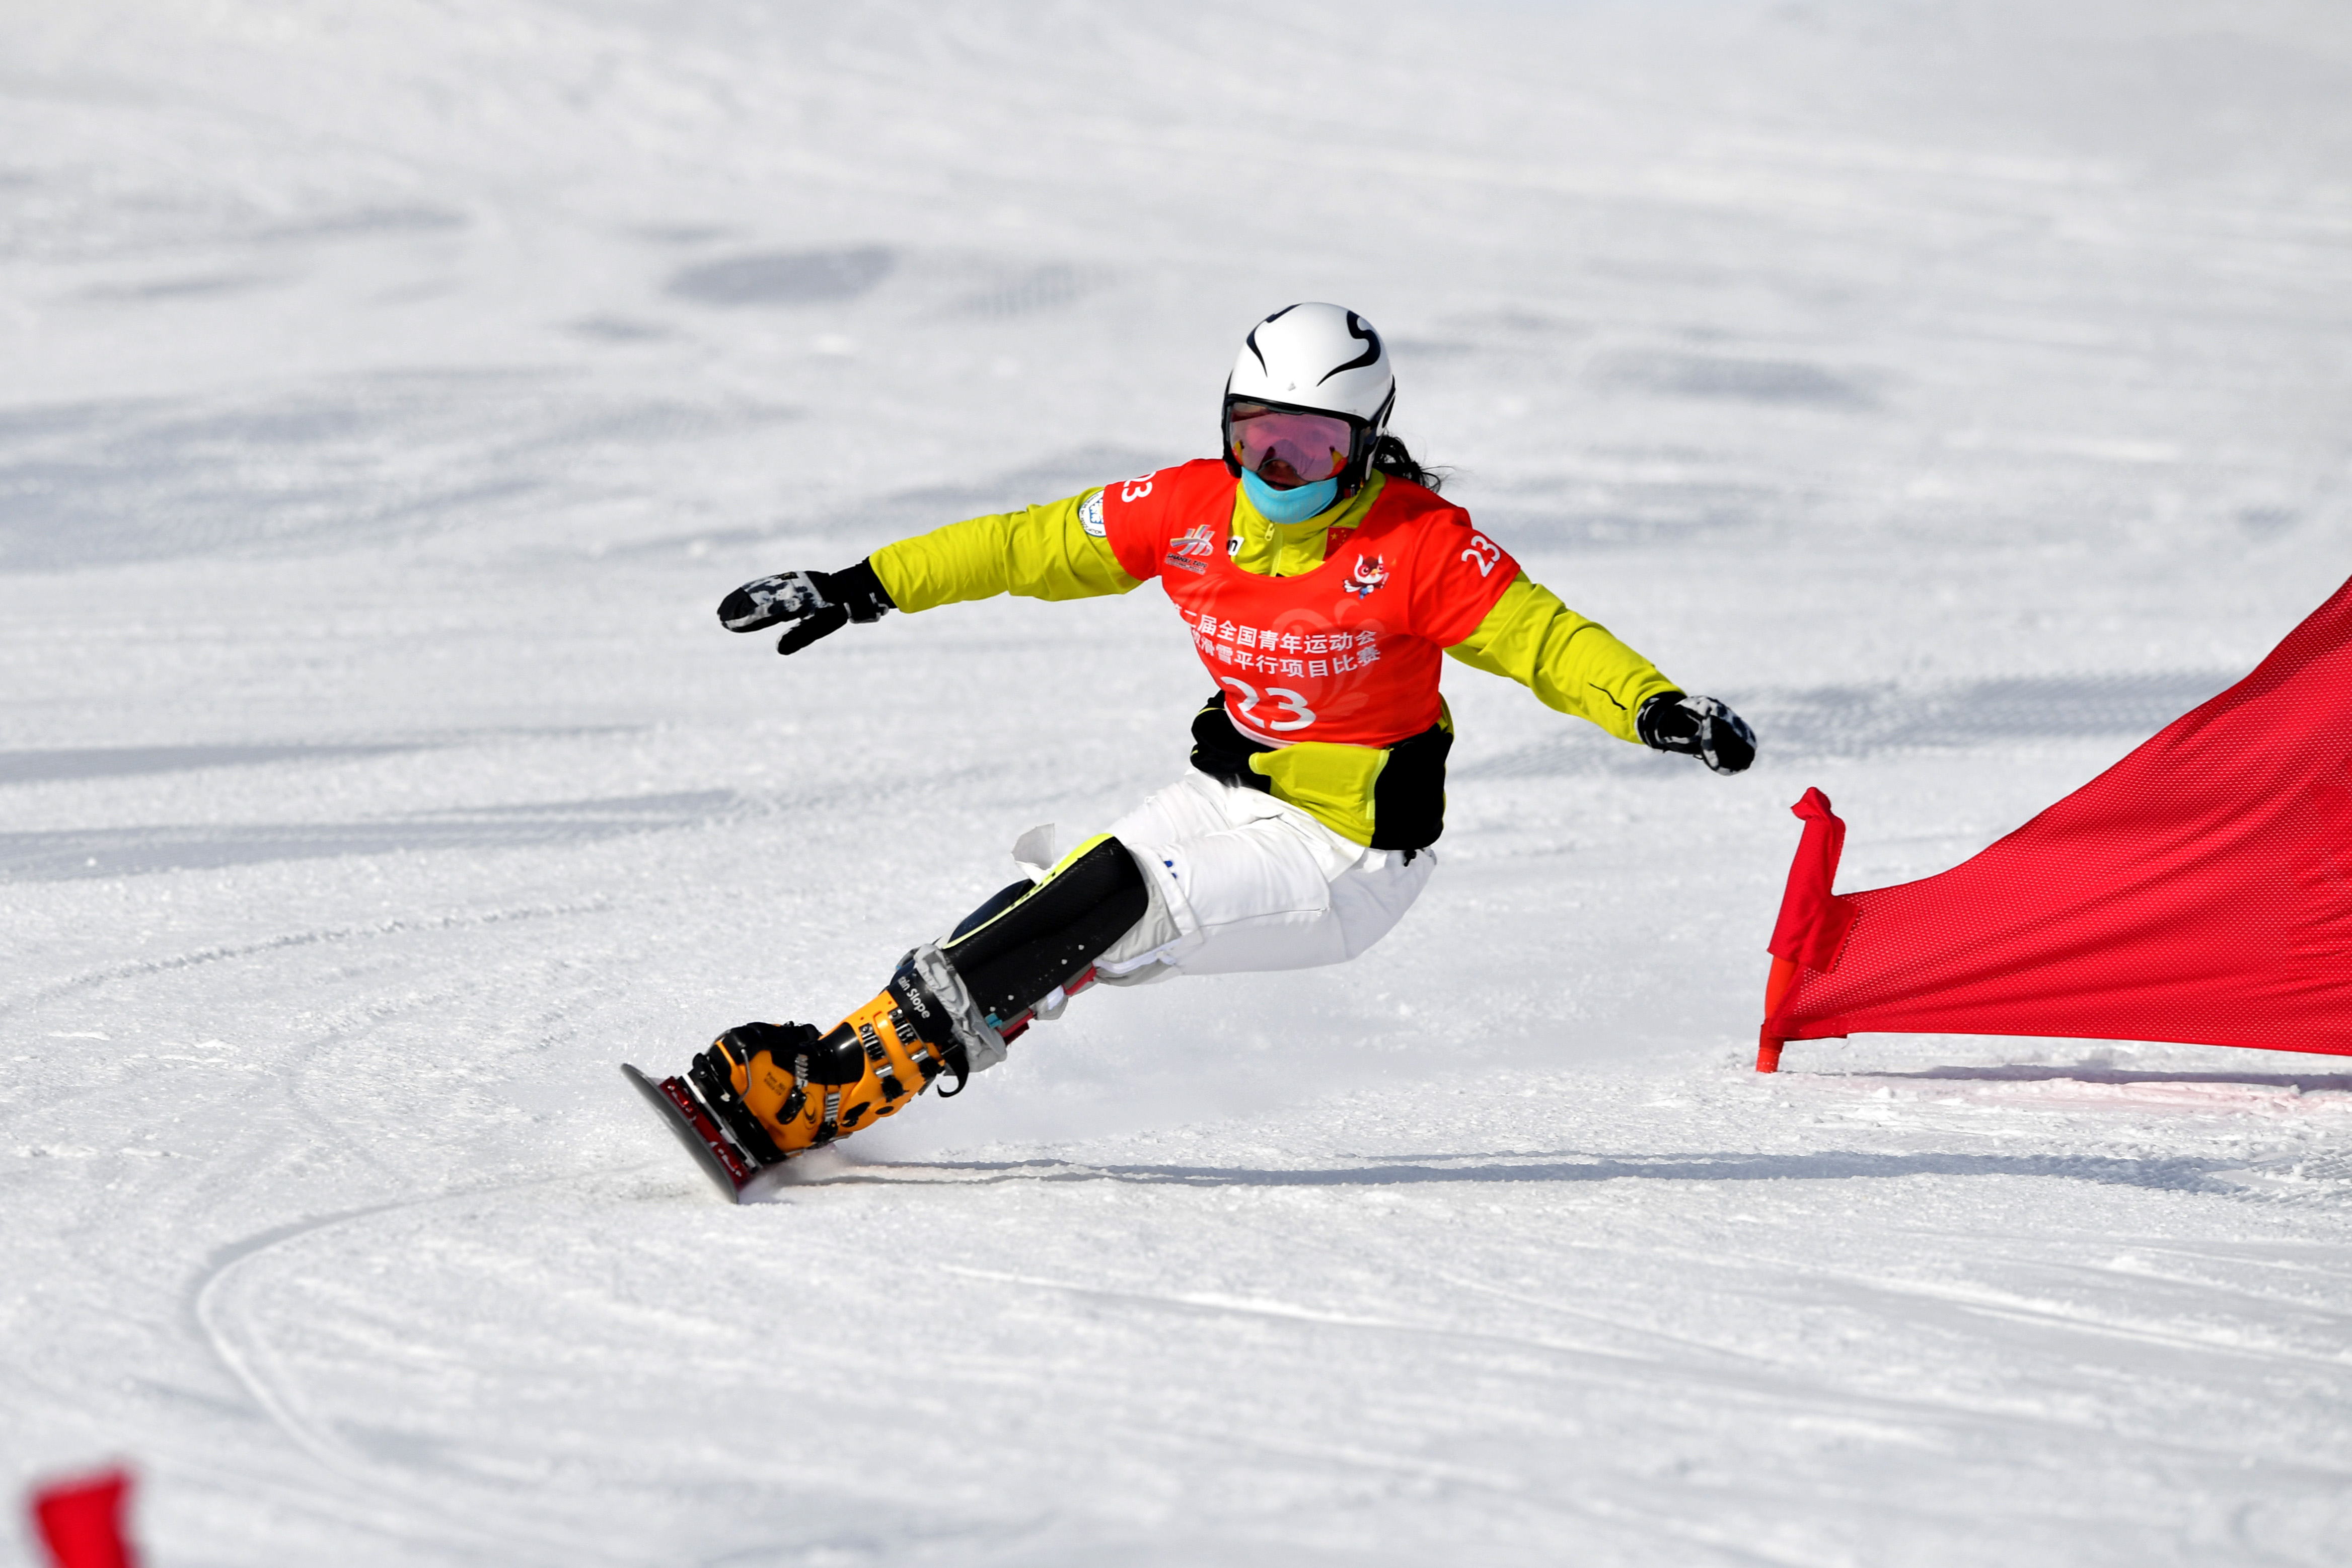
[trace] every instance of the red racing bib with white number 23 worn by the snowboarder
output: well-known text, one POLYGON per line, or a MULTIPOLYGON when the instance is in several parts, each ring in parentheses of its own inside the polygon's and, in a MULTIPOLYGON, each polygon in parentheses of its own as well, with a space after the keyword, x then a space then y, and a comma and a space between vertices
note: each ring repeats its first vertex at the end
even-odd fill
POLYGON ((1103 538, 1160 578, 1251 741, 1385 748, 1437 724, 1439 654, 1477 630, 1519 564, 1435 491, 1388 480, 1324 564, 1258 576, 1230 559, 1237 480, 1218 458, 1103 487, 1103 538))

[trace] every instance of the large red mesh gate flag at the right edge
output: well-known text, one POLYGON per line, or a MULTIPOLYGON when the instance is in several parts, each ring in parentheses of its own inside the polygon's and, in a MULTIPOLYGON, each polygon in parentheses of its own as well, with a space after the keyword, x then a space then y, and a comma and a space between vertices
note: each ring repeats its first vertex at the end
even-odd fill
POLYGON ((1835 896, 1806 790, 1757 1072, 1839 1034, 2352 1056, 2352 583, 2270 658, 1952 870, 1835 896))

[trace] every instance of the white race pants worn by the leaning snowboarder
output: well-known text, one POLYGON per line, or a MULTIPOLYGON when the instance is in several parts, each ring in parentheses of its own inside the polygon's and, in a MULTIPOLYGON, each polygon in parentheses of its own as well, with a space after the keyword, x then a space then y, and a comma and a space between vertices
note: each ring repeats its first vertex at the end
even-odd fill
POLYGON ((1200 771, 1110 832, 1150 886, 1150 910, 1096 961, 1115 985, 1345 964, 1388 936, 1437 865, 1428 849, 1364 849, 1298 806, 1200 771))

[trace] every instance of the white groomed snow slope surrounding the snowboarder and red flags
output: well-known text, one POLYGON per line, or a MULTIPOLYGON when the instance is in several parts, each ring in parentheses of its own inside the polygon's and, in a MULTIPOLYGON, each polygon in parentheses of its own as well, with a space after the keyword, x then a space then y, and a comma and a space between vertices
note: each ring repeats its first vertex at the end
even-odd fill
POLYGON ((2352 1063, 1750 1060, 1790 802, 1929 875, 2249 670, 2347 376, 2333 0, 7 0, 0 1481, 134 1460, 162 1568, 2343 1563, 2352 1063), (1369 957, 717 1201, 614 1065, 1207 686, 1157 588, 720 595, 1211 454, 1294 299, 1764 759, 1449 668, 1369 957))

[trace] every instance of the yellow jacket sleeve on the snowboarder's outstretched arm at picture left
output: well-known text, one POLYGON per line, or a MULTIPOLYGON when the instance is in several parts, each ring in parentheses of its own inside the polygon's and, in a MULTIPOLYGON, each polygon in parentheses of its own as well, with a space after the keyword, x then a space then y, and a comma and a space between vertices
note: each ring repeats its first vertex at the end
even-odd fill
MULTIPOLYGON (((1101 489, 1068 501, 950 522, 943 529, 901 538, 873 552, 875 576, 891 604, 906 611, 990 599, 1018 592, 1028 599, 1091 599, 1129 592, 1120 557, 1098 534, 1087 531, 1087 501, 1101 489)), ((1101 505, 1094 508, 1101 517, 1101 505)))

